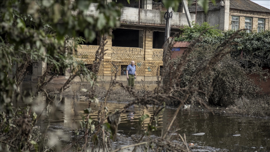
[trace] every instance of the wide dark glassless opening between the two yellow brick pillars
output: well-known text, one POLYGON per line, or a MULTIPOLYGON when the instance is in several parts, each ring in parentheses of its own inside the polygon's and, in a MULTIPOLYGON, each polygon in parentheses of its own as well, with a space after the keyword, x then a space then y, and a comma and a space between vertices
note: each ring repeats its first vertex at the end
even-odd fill
POLYGON ((113 30, 112 46, 139 48, 139 30, 122 28, 113 30))

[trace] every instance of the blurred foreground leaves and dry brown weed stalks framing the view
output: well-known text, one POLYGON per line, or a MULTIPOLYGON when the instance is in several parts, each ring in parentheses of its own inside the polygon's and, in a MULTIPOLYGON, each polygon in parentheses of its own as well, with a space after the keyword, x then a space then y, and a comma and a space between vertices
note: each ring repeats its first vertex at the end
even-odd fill
MULTIPOLYGON (((164 1, 165 2, 165 1, 164 1)), ((208 0, 200 1, 208 3, 208 0)), ((166 1, 166 6, 172 6, 179 1, 166 1)), ((226 40, 224 40, 216 48, 212 49, 212 54, 206 58, 203 64, 200 64, 196 70, 192 80, 187 82, 185 86, 180 85, 179 77, 183 74, 185 66, 188 66, 192 59, 192 52, 197 43, 201 42, 201 36, 193 39, 191 45, 186 49, 185 53, 176 63, 174 68, 169 66, 169 55, 163 58, 163 68, 168 72, 162 73, 161 79, 171 78, 168 83, 162 85, 161 79, 158 81, 158 86, 153 91, 138 92, 132 90, 127 85, 116 81, 117 75, 111 80, 108 91, 101 91, 103 94, 100 98, 104 100, 99 104, 99 97, 97 94, 97 74, 104 55, 104 46, 106 44, 106 34, 113 27, 119 26, 117 18, 120 17, 120 10, 117 5, 112 2, 107 5, 101 1, 1 1, 1 129, 0 142, 1 151, 86 151, 91 147, 92 151, 99 149, 101 151, 111 151, 110 143, 115 140, 120 123, 120 114, 129 112, 128 108, 134 104, 141 105, 148 108, 148 105, 153 105, 153 115, 150 117, 147 114, 142 115, 139 123, 144 119, 150 118, 147 124, 147 129, 144 130, 140 139, 134 145, 134 151, 137 146, 142 146, 143 149, 152 149, 154 151, 188 151, 187 142, 178 134, 179 140, 183 144, 172 143, 167 139, 167 134, 171 131, 172 124, 176 119, 180 108, 184 103, 189 102, 190 96, 201 105, 207 107, 204 102, 204 97, 209 98, 210 92, 206 96, 193 96, 194 94, 205 94, 204 88, 199 86, 207 77, 209 73, 213 73, 215 66, 218 66, 222 59, 226 60, 227 54, 231 51, 229 46, 234 38, 238 38, 238 32, 233 33, 226 40), (90 3, 98 3, 97 10, 99 14, 97 17, 84 16, 88 11, 90 3), (51 68, 70 68, 76 63, 72 58, 73 49, 76 51, 77 45, 81 38, 78 38, 77 33, 83 32, 86 41, 92 41, 95 38, 96 31, 102 35, 102 41, 99 49, 96 51, 95 61, 92 65, 92 73, 90 77, 90 85, 82 89, 87 98, 87 107, 85 107, 84 114, 79 121, 74 119, 73 122, 79 123, 74 125, 72 134, 76 136, 69 146, 61 147, 61 141, 56 137, 49 137, 47 132, 45 134, 39 133, 37 122, 40 120, 43 111, 46 111, 47 117, 50 118, 53 111, 57 109, 58 103, 61 102, 68 84, 76 77, 80 76, 80 71, 71 71, 73 74, 65 84, 55 91, 51 96, 43 87, 52 80, 46 79, 47 74, 51 68), (73 47, 74 42, 74 47, 73 47), (44 53, 44 49, 47 53, 44 53), (35 61, 44 61, 49 64, 47 70, 42 73, 37 85, 37 91, 30 94, 29 100, 25 100, 25 92, 19 90, 19 85, 22 83, 24 77, 23 73, 26 71, 27 65, 35 61), (20 63, 17 68, 15 76, 10 78, 12 65, 20 63), (175 84, 179 84, 175 86, 175 84), (109 113, 106 106, 110 99, 110 94, 113 93, 112 87, 119 85, 126 94, 132 97, 132 101, 126 104, 122 109, 109 113), (181 94, 181 95, 180 95, 181 94), (49 102, 45 107, 38 107, 42 98, 46 97, 49 102), (103 99, 104 98, 104 99, 103 99), (159 115, 163 113, 166 100, 178 102, 179 106, 173 119, 170 121, 162 138, 152 139, 151 134, 157 130, 157 120, 159 115), (12 102, 22 101, 26 105, 23 109, 14 109, 12 102), (91 104, 99 106, 97 121, 91 118, 90 108, 91 104), (34 108, 38 107, 38 108, 34 108), (145 142, 141 142, 144 137, 147 137, 145 142), (184 146, 185 145, 185 146, 184 146)), ((202 5, 204 8, 208 5, 202 5)), ((204 34, 204 33, 202 33, 204 34)), ((171 46, 172 44, 170 44, 171 46)), ((165 50, 164 54, 171 53, 171 47, 165 50)), ((198 50, 199 51, 199 50, 198 50)), ((211 52, 210 52, 211 53, 211 52)), ((226 62, 225 62, 226 63, 226 62)), ((113 64, 113 63, 112 63, 113 64)), ((56 70, 57 71, 57 70, 56 70)), ((118 68, 116 67, 116 73, 118 68)), ((55 73, 57 74, 57 73, 55 73)), ((211 82, 214 82, 213 76, 210 74, 211 82)), ((207 78, 208 79, 208 78, 207 78)), ((228 84, 229 85, 229 84, 228 84)), ((123 92, 121 90, 121 92, 123 92)), ((229 90, 229 89, 228 89, 229 90)), ((81 90, 80 90, 81 91, 81 90)), ((79 92, 79 91, 78 91, 79 92)), ((83 94, 79 92, 79 94, 83 94)), ((240 93, 236 93, 240 94, 240 93)), ((220 96, 220 94, 217 93, 220 96)), ((230 94, 229 94, 230 95, 230 94)), ((73 103, 74 115, 79 116, 76 109, 76 103, 73 103)), ((49 125, 49 124, 48 124, 49 125)), ((63 134, 55 132, 53 135, 61 138, 63 134)), ((122 147, 121 149, 130 147, 122 147)), ((121 150, 116 149, 115 151, 121 150)))

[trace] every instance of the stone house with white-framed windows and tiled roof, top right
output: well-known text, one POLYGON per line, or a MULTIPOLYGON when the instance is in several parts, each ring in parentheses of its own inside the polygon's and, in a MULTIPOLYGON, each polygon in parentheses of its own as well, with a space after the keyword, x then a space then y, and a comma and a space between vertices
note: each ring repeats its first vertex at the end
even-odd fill
MULTIPOLYGON (((195 3, 189 7, 195 14, 195 3)), ((244 29, 247 32, 260 32, 270 29, 270 9, 250 0, 216 0, 216 5, 209 2, 209 11, 205 14, 197 6, 196 22, 208 22, 211 26, 219 25, 220 30, 244 29)))

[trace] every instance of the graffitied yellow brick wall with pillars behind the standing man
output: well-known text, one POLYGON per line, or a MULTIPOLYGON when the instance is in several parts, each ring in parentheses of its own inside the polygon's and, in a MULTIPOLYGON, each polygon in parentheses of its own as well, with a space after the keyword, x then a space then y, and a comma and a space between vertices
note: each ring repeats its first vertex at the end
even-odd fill
MULTIPOLYGON (((143 38, 143 48, 112 47, 112 37, 107 36, 107 44, 104 49, 105 55, 101 62, 98 75, 113 76, 116 73, 121 75, 121 65, 129 65, 135 61, 136 73, 138 76, 157 76, 159 66, 163 65, 163 49, 153 49, 153 30, 146 29, 143 38), (115 66, 113 66, 115 64, 115 66)), ((78 53, 73 52, 74 60, 83 61, 85 64, 93 64, 98 46, 81 45, 78 53)), ((80 67, 73 65, 75 70, 80 67)))

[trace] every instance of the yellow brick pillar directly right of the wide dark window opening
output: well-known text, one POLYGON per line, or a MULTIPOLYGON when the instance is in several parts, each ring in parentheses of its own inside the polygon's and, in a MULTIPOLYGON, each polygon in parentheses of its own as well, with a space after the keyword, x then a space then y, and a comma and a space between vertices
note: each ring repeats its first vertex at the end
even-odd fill
POLYGON ((144 47, 144 60, 145 60, 145 81, 151 81, 152 76, 152 50, 153 50, 153 30, 147 29, 145 33, 145 47, 144 47))

